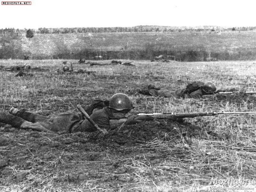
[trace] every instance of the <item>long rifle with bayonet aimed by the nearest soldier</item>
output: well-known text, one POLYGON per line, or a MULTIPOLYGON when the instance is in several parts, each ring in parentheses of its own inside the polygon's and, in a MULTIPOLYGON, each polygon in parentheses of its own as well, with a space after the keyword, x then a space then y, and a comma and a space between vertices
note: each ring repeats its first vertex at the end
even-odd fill
POLYGON ((137 116, 146 115, 157 119, 181 119, 194 118, 199 116, 216 116, 223 114, 256 114, 256 112, 206 112, 206 113, 139 113, 137 116))

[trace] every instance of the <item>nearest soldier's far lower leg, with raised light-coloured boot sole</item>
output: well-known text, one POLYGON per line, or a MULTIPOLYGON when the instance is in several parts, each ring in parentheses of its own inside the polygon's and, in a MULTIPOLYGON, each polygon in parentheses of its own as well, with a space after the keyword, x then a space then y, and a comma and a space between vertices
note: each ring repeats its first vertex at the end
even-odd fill
POLYGON ((35 123, 35 122, 46 122, 48 120, 47 117, 42 115, 34 114, 27 111, 20 111, 14 107, 12 107, 9 111, 10 114, 21 117, 22 119, 35 123))

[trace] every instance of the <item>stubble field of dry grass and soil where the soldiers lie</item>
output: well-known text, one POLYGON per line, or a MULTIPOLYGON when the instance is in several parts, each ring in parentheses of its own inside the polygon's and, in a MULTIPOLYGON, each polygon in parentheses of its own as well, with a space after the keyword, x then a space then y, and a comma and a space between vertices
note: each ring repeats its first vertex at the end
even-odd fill
MULTIPOLYGON (((244 62, 150 62, 135 67, 89 66, 74 69, 96 75, 56 74, 64 60, 0 60, 0 65, 30 64, 33 77, 0 71, 0 110, 11 106, 45 116, 95 97, 126 93, 139 112, 256 111, 256 96, 234 94, 205 99, 155 98, 138 94, 149 84, 176 90, 192 81, 212 81, 218 89, 256 91, 256 64, 244 62)), ((77 60, 67 60, 76 62, 77 60)), ((110 60, 98 61, 110 63, 110 60)), ((124 62, 124 60, 122 60, 124 62)), ((123 125, 110 134, 53 135, 0 124, 0 191, 214 191, 212 178, 256 184, 256 115, 221 115, 184 120, 154 120, 123 125)), ((220 190, 228 191, 228 190, 220 190)), ((234 191, 234 190, 229 190, 234 191)), ((244 190, 243 190, 244 191, 244 190)), ((250 190, 248 190, 250 191, 250 190)))

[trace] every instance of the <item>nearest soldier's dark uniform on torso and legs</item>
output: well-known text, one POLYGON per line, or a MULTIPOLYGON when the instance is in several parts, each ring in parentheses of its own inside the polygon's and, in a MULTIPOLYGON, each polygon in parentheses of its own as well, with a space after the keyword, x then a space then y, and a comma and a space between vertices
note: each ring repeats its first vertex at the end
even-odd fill
MULTIPOLYGON (((98 124, 100 128, 106 128, 106 130, 110 129, 110 120, 114 119, 114 117, 108 107, 97 110, 92 114, 90 114, 90 106, 86 106, 86 108, 87 110, 85 110, 89 113, 90 118, 94 120, 94 122, 98 124)), ((83 117, 81 113, 74 113, 71 111, 58 114, 51 118, 47 118, 45 116, 33 114, 26 111, 18 111, 15 115, 15 117, 17 118, 11 117, 13 116, 12 114, 8 115, 10 118, 12 118, 12 122, 9 122, 8 124, 18 125, 19 123, 17 124, 17 122, 20 122, 22 124, 25 121, 28 121, 32 122, 34 124, 33 126, 42 126, 52 132, 72 133, 78 131, 94 132, 97 130, 87 119, 83 117)), ((21 124, 20 126, 22 126, 21 124)), ((30 124, 27 124, 27 126, 28 127, 26 128, 29 128, 30 124)))

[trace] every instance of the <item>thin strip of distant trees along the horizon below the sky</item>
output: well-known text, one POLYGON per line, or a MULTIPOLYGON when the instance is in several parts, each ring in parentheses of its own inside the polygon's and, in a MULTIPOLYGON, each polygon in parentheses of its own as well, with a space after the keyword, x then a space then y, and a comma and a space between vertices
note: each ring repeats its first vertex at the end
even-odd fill
MULTIPOLYGON (((26 32, 28 29, 5 28, 0 29, 0 34, 9 32, 26 32)), ((183 32, 183 31, 249 31, 255 27, 219 27, 219 26, 134 26, 134 27, 77 27, 77 28, 38 28, 33 30, 37 34, 66 34, 66 33, 108 33, 108 32, 183 32)))

